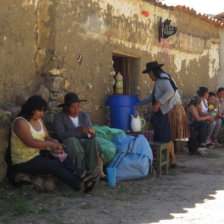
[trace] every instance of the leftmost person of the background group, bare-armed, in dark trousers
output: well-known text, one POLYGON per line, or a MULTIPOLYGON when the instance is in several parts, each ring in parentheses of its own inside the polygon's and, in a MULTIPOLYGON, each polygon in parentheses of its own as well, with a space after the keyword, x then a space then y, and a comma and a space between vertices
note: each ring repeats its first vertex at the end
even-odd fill
POLYGON ((200 116, 198 107, 201 107, 201 98, 199 96, 194 96, 187 106, 187 119, 191 132, 191 137, 188 142, 190 154, 200 154, 198 146, 206 147, 207 121, 212 119, 212 115, 200 116), (196 137, 196 132, 198 132, 198 138, 196 137))

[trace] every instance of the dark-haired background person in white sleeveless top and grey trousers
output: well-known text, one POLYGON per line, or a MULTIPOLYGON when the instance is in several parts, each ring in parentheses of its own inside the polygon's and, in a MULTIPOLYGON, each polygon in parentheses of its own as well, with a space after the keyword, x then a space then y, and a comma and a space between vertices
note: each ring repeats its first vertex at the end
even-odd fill
MULTIPOLYGON (((198 106, 198 113, 200 116, 208 116, 211 115, 208 111, 208 97, 209 97, 209 92, 206 87, 199 87, 198 91, 198 96, 201 98, 201 105, 198 106)), ((210 97, 212 100, 213 96, 210 97)), ((219 129, 221 127, 221 120, 214 119, 214 116, 212 116, 211 119, 208 120, 208 128, 207 128, 207 133, 206 133, 206 144, 207 146, 214 144, 215 139, 217 139, 219 129)))

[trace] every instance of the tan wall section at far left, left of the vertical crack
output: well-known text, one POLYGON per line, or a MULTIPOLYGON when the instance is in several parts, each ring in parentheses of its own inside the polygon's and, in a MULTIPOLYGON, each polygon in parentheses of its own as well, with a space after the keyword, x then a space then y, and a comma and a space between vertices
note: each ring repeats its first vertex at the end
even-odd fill
POLYGON ((0 102, 30 92, 36 75, 36 7, 22 0, 0 1, 0 102))

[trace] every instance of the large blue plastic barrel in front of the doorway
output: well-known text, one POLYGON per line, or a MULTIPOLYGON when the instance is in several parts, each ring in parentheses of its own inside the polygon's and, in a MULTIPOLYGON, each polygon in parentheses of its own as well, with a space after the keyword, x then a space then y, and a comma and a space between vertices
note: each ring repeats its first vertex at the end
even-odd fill
POLYGON ((135 95, 112 95, 106 101, 110 107, 110 122, 112 128, 131 130, 131 116, 136 115, 136 105, 140 103, 135 95))

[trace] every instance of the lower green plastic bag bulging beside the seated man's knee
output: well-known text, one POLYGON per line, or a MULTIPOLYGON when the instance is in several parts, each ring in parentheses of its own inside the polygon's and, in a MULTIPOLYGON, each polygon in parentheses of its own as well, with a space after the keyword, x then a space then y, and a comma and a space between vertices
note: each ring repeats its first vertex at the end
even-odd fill
POLYGON ((96 137, 99 143, 101 144, 101 147, 103 149, 103 164, 106 165, 108 164, 115 154, 117 153, 117 146, 110 140, 101 138, 101 137, 96 137))

